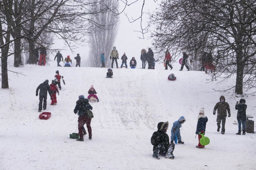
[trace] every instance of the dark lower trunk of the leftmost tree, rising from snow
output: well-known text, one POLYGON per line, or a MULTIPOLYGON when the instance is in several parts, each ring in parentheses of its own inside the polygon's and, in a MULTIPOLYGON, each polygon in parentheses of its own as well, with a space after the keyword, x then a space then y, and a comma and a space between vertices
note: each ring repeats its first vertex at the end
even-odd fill
POLYGON ((8 47, 2 48, 2 58, 1 58, 1 62, 2 62, 2 88, 3 89, 8 89, 9 88, 9 84, 8 84, 8 70, 7 70, 7 57, 8 57, 8 50, 7 48, 9 48, 9 45, 7 45, 8 47))

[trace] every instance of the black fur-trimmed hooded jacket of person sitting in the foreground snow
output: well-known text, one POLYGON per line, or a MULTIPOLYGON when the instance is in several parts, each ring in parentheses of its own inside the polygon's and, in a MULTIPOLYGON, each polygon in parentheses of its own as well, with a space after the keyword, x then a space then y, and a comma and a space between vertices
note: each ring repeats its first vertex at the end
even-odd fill
POLYGON ((164 128, 169 126, 169 122, 160 122, 157 125, 157 131, 153 133, 151 137, 151 144, 154 147, 158 145, 163 145, 165 148, 168 148, 169 143, 169 136, 164 132, 164 128))

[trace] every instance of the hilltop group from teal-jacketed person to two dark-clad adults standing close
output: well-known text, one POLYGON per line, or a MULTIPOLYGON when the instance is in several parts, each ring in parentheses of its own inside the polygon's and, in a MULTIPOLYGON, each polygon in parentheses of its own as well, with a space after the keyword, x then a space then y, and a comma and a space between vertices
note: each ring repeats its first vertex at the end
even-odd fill
MULTIPOLYGON (((117 60, 119 59, 119 53, 116 49, 116 46, 114 46, 113 50, 111 50, 111 52, 110 52, 110 59, 112 59, 111 68, 113 69, 114 61, 116 63, 116 67, 118 68, 117 60)), ((122 60, 122 64, 121 64, 120 68, 122 68, 123 65, 125 65, 125 67, 127 69, 128 57, 126 56, 125 52, 123 53, 121 60, 122 60)), ((151 48, 148 48, 148 52, 144 48, 141 50, 140 60, 142 60, 142 69, 145 69, 147 62, 148 62, 148 69, 155 69, 154 53, 151 50, 151 48)), ((102 63, 101 67, 105 67, 105 53, 104 52, 101 54, 100 62, 102 63)), ((135 60, 135 57, 132 57, 132 59, 130 60, 130 67, 136 68, 136 66, 137 66, 137 61, 135 60)))

